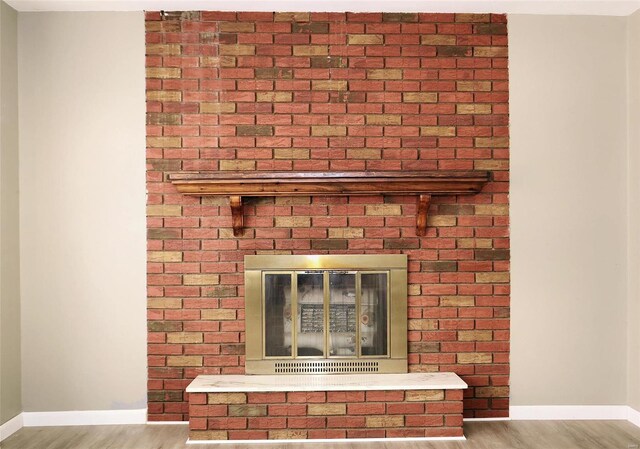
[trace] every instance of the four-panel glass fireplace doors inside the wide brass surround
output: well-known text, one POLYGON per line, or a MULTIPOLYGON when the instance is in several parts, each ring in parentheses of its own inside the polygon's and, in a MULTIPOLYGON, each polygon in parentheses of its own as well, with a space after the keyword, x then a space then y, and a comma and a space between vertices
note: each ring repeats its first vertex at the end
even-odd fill
POLYGON ((266 358, 388 356, 388 273, 264 275, 266 358))

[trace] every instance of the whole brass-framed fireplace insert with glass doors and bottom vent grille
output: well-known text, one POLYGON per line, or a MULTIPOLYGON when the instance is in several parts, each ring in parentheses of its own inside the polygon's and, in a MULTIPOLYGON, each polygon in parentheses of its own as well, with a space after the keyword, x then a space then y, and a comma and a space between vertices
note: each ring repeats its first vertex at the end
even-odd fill
POLYGON ((245 256, 247 374, 407 372, 405 255, 245 256))

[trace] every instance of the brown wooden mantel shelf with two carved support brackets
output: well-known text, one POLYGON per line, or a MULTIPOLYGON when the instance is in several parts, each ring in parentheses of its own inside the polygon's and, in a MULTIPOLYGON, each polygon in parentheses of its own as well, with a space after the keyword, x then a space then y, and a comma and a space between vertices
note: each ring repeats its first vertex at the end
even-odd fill
POLYGON ((478 193, 489 181, 486 171, 403 172, 180 172, 169 180, 180 193, 228 196, 233 234, 243 233, 242 197, 313 195, 417 195, 416 234, 427 232, 432 195, 478 193))

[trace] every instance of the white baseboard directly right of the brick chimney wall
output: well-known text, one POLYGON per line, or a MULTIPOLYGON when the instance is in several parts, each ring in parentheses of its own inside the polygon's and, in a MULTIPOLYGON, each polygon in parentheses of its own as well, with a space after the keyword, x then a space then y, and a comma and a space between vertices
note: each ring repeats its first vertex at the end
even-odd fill
POLYGON ((509 407, 512 420, 610 420, 629 419, 626 405, 516 405, 509 407))

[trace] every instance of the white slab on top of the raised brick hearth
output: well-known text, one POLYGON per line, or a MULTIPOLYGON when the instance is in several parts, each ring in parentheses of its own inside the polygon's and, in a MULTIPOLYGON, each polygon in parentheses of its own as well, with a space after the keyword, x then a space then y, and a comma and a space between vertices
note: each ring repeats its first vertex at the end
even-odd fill
POLYGON ((200 375, 187 393, 268 391, 462 390, 454 373, 327 375, 200 375))

